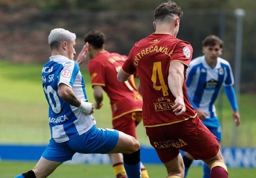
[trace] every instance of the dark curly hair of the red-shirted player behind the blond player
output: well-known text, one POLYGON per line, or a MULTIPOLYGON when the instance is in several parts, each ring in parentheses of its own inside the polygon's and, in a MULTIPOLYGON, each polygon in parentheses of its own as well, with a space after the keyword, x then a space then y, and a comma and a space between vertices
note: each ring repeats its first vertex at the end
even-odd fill
POLYGON ((106 37, 101 31, 92 30, 84 35, 83 40, 85 43, 88 42, 89 45, 92 45, 94 48, 100 49, 105 43, 106 37))

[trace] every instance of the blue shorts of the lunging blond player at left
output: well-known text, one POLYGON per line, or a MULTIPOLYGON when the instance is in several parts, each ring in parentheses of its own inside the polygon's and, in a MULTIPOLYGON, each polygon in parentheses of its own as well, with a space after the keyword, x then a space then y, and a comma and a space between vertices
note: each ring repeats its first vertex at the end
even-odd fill
POLYGON ((78 153, 106 154, 117 144, 119 133, 114 129, 101 129, 93 126, 89 131, 63 143, 50 139, 42 157, 50 161, 65 162, 78 153))

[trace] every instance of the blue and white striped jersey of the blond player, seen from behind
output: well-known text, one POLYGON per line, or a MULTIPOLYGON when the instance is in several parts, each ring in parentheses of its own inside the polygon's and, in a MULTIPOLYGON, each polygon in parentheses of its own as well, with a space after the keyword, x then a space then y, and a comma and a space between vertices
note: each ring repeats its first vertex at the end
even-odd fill
POLYGON ((57 143, 77 137, 90 128, 96 121, 92 115, 63 101, 58 96, 58 84, 65 83, 72 88, 82 101, 88 101, 85 82, 76 61, 64 56, 52 56, 42 69, 42 83, 49 104, 49 126, 52 139, 57 143))

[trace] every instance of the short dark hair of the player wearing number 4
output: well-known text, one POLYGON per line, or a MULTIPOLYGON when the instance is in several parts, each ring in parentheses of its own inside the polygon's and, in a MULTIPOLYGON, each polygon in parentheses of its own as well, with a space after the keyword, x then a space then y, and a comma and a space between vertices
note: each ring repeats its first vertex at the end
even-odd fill
POLYGON ((154 18, 155 21, 156 19, 164 20, 167 15, 173 16, 174 14, 178 15, 180 18, 183 15, 183 12, 181 11, 180 6, 178 6, 175 2, 168 1, 160 4, 155 9, 154 18))

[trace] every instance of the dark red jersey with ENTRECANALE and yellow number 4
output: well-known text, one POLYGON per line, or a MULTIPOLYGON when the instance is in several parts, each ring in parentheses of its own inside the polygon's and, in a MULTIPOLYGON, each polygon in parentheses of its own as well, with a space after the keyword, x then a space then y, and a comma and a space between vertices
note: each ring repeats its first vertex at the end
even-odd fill
POLYGON ((122 69, 128 74, 137 71, 143 97, 143 123, 145 127, 162 126, 184 121, 196 116, 189 103, 185 79, 183 95, 186 112, 182 116, 173 113, 175 97, 168 86, 169 66, 179 61, 186 68, 191 61, 193 48, 188 42, 168 34, 152 33, 135 43, 122 69))

